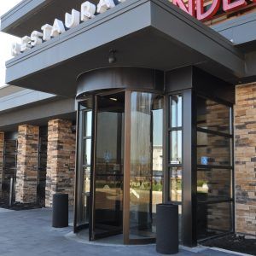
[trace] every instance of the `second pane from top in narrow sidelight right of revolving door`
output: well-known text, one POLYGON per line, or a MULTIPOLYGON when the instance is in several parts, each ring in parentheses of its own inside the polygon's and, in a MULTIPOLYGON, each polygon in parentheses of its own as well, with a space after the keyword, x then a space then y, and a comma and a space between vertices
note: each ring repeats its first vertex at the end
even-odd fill
POLYGON ((182 163, 182 131, 170 131, 170 164, 182 163))

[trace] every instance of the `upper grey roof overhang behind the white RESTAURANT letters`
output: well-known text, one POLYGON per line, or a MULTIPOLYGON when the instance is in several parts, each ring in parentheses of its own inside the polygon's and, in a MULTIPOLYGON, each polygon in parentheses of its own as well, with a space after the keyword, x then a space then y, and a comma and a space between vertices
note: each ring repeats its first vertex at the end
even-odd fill
POLYGON ((40 30, 44 24, 52 24, 55 18, 63 20, 66 12, 79 9, 84 2, 84 0, 23 0, 1 16, 1 31, 24 37, 33 30, 40 30))

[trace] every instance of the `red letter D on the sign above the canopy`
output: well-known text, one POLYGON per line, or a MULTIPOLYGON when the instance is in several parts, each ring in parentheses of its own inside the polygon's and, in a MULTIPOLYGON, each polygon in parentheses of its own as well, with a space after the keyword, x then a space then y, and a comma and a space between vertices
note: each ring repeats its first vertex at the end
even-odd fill
POLYGON ((212 6, 207 9, 207 11, 204 13, 204 3, 203 0, 197 0, 196 1, 196 18, 197 20, 208 20, 212 18, 213 15, 215 15, 219 9, 220 0, 213 0, 212 6))

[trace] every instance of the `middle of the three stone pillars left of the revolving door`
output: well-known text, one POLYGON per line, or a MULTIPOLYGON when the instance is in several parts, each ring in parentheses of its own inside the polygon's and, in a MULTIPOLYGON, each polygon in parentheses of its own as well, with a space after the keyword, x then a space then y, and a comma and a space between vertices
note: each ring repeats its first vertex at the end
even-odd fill
POLYGON ((15 201, 37 201, 38 139, 38 126, 19 126, 15 201))

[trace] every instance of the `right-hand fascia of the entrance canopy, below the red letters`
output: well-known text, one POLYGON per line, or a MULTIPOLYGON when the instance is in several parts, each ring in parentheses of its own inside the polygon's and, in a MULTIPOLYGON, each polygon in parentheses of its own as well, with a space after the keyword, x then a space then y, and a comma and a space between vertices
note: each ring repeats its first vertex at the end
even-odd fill
POLYGON ((170 5, 167 1, 155 1, 153 4, 159 7, 152 9, 154 27, 212 61, 224 67, 230 67, 236 75, 240 76, 244 73, 244 56, 229 40, 205 26, 201 21, 184 14, 172 3, 170 5), (166 6, 172 9, 172 15, 177 17, 177 19, 172 19, 171 24, 166 24, 167 12, 160 11, 166 6), (234 62, 231 63, 232 61, 234 62))

